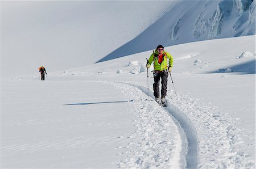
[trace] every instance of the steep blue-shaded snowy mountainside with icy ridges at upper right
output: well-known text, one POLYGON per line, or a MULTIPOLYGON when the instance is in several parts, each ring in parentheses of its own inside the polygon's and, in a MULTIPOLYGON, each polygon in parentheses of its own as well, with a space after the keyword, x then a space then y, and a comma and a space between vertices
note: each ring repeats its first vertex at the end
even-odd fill
POLYGON ((255 34, 255 1, 178 1, 141 35, 100 61, 164 46, 255 34))

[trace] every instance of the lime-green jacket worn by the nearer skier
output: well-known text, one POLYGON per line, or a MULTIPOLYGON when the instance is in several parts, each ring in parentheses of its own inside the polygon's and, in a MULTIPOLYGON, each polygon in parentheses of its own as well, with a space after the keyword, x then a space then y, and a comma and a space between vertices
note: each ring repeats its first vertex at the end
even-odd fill
POLYGON ((149 65, 151 65, 152 62, 154 61, 154 70, 163 71, 163 70, 168 69, 168 60, 167 60, 167 58, 169 59, 170 67, 172 67, 172 62, 174 61, 174 58, 171 56, 170 53, 165 52, 164 50, 163 50, 163 53, 164 53, 164 60, 162 61, 161 64, 158 63, 158 51, 157 50, 155 50, 155 52, 152 53, 150 58, 148 59, 148 64, 149 65))

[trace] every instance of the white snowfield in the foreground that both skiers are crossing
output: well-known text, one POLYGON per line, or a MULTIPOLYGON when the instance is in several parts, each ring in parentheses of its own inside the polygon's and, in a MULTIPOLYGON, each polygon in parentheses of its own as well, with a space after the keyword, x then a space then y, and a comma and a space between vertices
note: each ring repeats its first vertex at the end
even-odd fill
POLYGON ((151 50, 2 79, 1 168, 255 168, 255 36, 164 49, 168 107, 151 50))

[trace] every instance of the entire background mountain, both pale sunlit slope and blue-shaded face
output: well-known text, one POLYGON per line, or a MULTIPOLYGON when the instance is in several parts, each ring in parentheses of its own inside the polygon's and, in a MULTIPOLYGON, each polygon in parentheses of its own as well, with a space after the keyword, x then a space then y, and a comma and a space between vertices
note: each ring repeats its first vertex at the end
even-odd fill
POLYGON ((255 35, 255 1, 1 1, 4 77, 255 35), (17 71, 22 67, 22 71, 17 71))

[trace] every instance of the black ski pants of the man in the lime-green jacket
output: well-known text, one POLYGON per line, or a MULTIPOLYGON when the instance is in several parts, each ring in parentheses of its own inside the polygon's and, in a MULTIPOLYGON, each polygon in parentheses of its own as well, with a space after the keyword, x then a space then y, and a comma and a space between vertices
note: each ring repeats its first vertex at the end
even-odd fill
POLYGON ((167 93, 167 80, 168 80, 168 71, 163 70, 163 71, 154 71, 154 84, 153 84, 153 89, 154 89, 154 96, 155 98, 159 98, 159 82, 161 78, 161 98, 166 96, 167 93))

